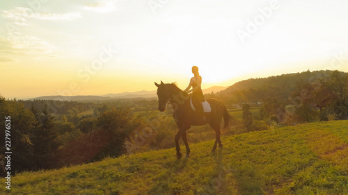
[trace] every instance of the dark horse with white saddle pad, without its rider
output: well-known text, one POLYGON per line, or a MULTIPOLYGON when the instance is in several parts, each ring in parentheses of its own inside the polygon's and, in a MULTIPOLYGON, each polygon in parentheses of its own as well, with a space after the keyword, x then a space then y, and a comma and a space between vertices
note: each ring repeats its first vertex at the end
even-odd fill
POLYGON ((161 81, 161 84, 155 82, 157 88, 157 96, 159 99, 158 110, 164 112, 166 110, 166 105, 171 103, 173 106, 173 118, 179 128, 177 134, 175 135, 175 146, 176 146, 176 155, 177 158, 182 157, 180 153, 179 139, 182 137, 184 144, 186 146, 186 156, 190 156, 190 148, 187 142, 186 131, 191 128, 191 126, 203 126, 209 124, 215 130, 215 143, 212 149, 212 152, 216 150, 216 145, 219 144, 219 147, 222 148, 220 139, 220 124, 222 119, 224 120, 223 128, 228 128, 228 122, 233 117, 230 116, 226 106, 217 99, 207 99, 211 107, 211 112, 205 112, 204 117, 198 115, 196 111, 191 108, 191 94, 180 90, 175 83, 166 83, 164 84, 161 81))

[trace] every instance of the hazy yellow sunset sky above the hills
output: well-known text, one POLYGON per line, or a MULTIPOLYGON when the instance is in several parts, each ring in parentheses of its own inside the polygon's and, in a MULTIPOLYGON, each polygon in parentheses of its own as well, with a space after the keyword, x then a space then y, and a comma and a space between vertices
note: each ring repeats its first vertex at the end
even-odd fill
POLYGON ((203 88, 348 71, 345 0, 0 1, 0 95, 203 88))

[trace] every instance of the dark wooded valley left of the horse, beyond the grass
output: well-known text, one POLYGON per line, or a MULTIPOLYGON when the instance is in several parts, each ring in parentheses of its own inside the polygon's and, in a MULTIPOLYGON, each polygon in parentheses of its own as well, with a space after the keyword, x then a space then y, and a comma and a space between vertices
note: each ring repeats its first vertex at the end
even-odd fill
MULTIPOLYGON (((134 115, 129 106, 153 110, 150 108, 153 103, 143 100, 106 103, 17 101, 0 96, 0 117, 3 119, 0 125, 5 126, 6 116, 11 119, 13 173, 58 168, 124 154, 127 152, 125 139, 134 140, 134 132, 148 126, 145 119, 134 115), (58 106, 52 109, 49 105, 53 104, 58 106), (93 112, 79 115, 87 110, 93 112)), ((4 133, 2 128, 1 134, 4 133)), ((0 153, 5 150, 5 140, 1 139, 0 153)), ((1 169, 0 172, 3 174, 1 169)))

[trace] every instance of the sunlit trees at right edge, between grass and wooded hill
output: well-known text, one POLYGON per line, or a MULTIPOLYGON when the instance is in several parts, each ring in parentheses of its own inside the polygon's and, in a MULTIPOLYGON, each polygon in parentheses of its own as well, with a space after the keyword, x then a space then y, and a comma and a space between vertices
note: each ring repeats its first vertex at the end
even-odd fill
POLYGON ((282 90, 270 94, 266 98, 258 96, 258 101, 262 101, 260 119, 253 118, 248 105, 243 104, 243 121, 248 129, 253 119, 269 126, 348 119, 348 74, 344 72, 317 71, 309 79, 298 80, 287 98, 282 90))

